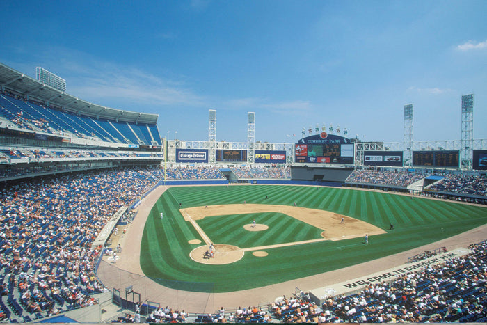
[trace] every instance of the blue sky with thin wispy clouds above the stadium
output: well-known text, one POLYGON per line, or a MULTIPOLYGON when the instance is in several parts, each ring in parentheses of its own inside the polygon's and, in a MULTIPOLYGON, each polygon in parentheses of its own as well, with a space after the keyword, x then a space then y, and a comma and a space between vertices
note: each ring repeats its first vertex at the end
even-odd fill
POLYGON ((364 141, 461 138, 475 94, 487 138, 487 1, 2 1, 0 62, 90 102, 159 114, 161 136, 294 142, 340 125, 364 141), (177 134, 176 134, 177 132, 177 134), (293 137, 293 134, 296 136, 293 137))

